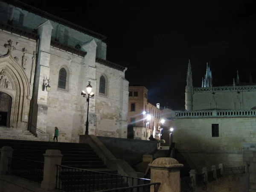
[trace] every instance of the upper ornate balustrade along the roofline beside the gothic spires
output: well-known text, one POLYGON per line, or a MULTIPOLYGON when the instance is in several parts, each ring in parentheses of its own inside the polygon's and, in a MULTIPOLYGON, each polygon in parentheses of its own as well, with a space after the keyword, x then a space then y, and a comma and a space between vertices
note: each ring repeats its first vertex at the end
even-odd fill
POLYGON ((237 92, 237 91, 256 91, 255 85, 247 86, 224 86, 224 87, 194 87, 194 93, 211 93, 211 92, 237 92))

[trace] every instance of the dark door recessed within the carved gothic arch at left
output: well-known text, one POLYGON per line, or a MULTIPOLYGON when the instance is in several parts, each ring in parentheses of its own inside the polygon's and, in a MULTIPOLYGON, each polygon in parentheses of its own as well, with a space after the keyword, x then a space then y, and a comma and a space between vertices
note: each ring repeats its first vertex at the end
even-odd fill
POLYGON ((12 97, 0 92, 0 126, 10 126, 12 97))

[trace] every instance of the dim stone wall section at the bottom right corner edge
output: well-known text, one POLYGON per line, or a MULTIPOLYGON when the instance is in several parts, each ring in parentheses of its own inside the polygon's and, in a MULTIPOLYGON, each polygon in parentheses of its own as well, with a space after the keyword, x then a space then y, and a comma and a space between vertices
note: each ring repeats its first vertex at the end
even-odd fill
POLYGON ((249 192, 256 191, 256 143, 243 143, 243 161, 247 163, 249 173, 249 192))

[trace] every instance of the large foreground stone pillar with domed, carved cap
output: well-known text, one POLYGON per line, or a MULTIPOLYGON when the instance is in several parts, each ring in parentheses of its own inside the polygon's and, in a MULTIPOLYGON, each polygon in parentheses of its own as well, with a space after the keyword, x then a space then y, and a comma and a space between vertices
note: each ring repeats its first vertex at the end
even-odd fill
MULTIPOLYGON (((180 168, 183 164, 170 157, 160 157, 148 164, 151 169, 151 183, 161 183, 158 192, 180 192, 180 168)), ((151 186, 150 192, 154 192, 151 186)))

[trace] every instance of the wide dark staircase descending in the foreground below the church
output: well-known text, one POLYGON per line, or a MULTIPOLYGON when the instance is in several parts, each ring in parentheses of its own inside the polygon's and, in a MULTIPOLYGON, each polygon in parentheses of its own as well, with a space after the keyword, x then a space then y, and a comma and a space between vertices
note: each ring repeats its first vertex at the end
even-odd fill
MULTIPOLYGON (((36 177, 43 170, 44 156, 43 154, 47 149, 58 149, 63 154, 61 166, 68 166, 78 169, 65 168, 62 172, 61 183, 62 190, 69 191, 74 183, 81 182, 81 178, 84 178, 85 182, 82 184, 76 184, 77 190, 72 189, 73 192, 79 191, 80 188, 92 187, 97 183, 97 189, 108 189, 108 186, 127 186, 122 177, 116 177, 115 175, 102 174, 101 172, 108 174, 117 174, 116 170, 108 169, 108 167, 102 162, 98 155, 93 151, 87 143, 56 143, 56 142, 44 142, 44 141, 25 141, 25 140, 0 140, 0 148, 3 146, 10 146, 14 149, 12 158, 13 169, 19 169, 20 160, 26 159, 34 162, 28 163, 26 166, 32 169, 40 169, 38 172, 30 172, 30 177, 36 177), (17 159, 15 159, 17 158, 17 159), (80 169, 80 170, 79 170, 80 169), (87 169, 94 172, 88 172, 87 169), (33 176, 34 175, 34 176, 33 176), (80 180, 80 181, 79 181, 80 180), (86 180, 89 183, 86 184, 86 180), (106 186, 107 185, 107 186, 106 186)), ((15 170, 14 170, 15 171, 15 170)), ((18 171, 18 170, 17 170, 18 171)), ((19 171, 18 171, 19 172, 19 171)), ((18 175, 16 175, 18 176, 18 175)), ((41 182, 42 177, 34 178, 35 182, 41 182)))

